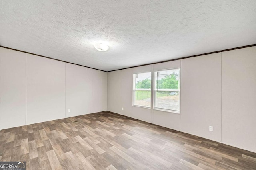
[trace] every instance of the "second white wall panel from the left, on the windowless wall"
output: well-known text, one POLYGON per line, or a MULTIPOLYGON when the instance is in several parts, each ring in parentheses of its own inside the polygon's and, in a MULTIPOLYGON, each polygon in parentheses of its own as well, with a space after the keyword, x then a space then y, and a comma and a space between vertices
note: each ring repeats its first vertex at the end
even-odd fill
POLYGON ((26 124, 65 117, 65 63, 26 54, 26 124))

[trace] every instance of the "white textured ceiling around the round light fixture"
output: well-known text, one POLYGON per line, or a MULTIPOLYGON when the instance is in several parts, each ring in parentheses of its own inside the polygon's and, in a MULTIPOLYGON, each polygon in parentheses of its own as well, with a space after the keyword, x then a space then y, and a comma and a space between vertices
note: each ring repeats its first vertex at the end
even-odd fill
POLYGON ((0 0, 0 45, 105 71, 255 43, 256 0, 0 0))

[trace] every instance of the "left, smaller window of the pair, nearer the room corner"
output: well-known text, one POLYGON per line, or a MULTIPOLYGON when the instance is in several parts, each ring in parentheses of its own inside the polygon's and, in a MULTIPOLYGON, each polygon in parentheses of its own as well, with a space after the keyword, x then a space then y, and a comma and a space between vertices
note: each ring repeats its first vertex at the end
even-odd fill
POLYGON ((151 72, 133 74, 133 105, 151 107, 151 72))

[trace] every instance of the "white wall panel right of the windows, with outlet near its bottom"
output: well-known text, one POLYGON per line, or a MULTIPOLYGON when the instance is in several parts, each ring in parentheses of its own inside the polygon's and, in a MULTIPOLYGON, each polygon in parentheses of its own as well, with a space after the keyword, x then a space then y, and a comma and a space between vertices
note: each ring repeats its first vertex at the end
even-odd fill
POLYGON ((221 141, 221 53, 182 59, 181 86, 180 131, 221 141))

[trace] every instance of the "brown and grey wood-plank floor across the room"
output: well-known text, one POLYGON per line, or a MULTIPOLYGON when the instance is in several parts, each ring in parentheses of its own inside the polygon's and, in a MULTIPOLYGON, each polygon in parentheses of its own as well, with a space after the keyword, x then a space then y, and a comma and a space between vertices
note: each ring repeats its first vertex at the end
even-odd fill
POLYGON ((27 170, 256 170, 256 153, 110 112, 4 129, 0 161, 26 161, 27 170))

